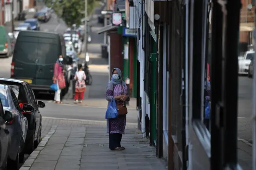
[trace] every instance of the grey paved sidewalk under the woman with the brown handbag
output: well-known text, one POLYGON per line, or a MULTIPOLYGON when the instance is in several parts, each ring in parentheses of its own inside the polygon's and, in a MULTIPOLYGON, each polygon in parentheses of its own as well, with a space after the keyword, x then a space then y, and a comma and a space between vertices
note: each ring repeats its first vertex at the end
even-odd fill
POLYGON ((126 150, 111 151, 105 126, 53 126, 20 170, 166 170, 142 134, 135 128, 126 133, 126 150))

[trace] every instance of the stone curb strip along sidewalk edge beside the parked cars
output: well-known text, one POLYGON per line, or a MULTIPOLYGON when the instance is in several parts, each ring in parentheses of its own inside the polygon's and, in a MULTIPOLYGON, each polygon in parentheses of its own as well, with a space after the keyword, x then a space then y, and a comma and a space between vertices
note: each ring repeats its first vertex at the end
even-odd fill
POLYGON ((28 156, 27 160, 24 162, 24 164, 20 167, 20 170, 29 170, 36 160, 38 154, 41 152, 41 150, 44 149, 44 146, 47 144, 49 139, 52 137, 54 132, 56 131, 57 126, 52 126, 51 130, 49 130, 48 134, 44 136, 44 138, 40 141, 37 148, 28 156))

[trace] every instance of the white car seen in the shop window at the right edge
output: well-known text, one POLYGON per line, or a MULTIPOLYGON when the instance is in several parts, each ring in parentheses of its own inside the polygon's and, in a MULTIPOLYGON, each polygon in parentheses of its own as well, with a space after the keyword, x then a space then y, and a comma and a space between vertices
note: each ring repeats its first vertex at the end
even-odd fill
POLYGON ((246 51, 244 57, 238 60, 238 74, 248 74, 249 64, 254 59, 254 51, 246 51))

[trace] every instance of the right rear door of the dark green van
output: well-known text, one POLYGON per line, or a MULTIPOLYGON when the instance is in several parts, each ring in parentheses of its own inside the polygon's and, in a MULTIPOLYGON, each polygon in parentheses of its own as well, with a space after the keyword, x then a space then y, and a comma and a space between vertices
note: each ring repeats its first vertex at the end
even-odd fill
MULTIPOLYGON (((38 40, 38 64, 36 70, 36 84, 47 85, 52 84, 52 76, 54 73, 54 64, 61 54, 60 43, 54 43, 54 39, 38 40)), ((58 41, 59 42, 59 41, 58 41)))

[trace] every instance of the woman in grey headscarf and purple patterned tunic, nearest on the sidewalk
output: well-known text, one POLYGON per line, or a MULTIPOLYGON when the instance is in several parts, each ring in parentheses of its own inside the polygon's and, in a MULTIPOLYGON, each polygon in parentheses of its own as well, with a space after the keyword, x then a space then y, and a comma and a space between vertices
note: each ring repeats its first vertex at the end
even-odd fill
MULTIPOLYGON (((112 70, 111 81, 108 82, 106 89, 106 99, 108 104, 114 97, 116 104, 129 101, 127 86, 122 81, 122 72, 118 68, 112 70), (123 87, 123 88, 122 88, 123 87)), ((109 134, 110 150, 124 150, 121 146, 122 135, 126 126, 126 115, 118 116, 114 119, 107 119, 107 133, 109 134)))

